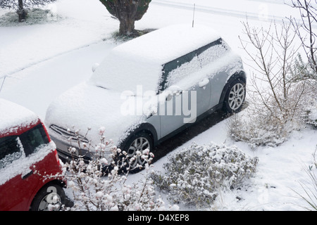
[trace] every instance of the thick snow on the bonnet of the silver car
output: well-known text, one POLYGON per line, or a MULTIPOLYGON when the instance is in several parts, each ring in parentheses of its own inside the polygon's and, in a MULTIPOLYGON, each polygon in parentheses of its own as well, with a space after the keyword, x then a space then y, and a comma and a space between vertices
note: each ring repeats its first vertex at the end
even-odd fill
MULTIPOLYGON (((125 131, 133 124, 139 124, 141 115, 123 116, 122 105, 130 102, 134 105, 137 97, 121 98, 116 91, 109 91, 91 82, 82 82, 58 96, 47 109, 45 123, 55 124, 66 129, 80 129, 85 134, 89 127, 88 139, 99 143, 100 136, 95 135, 99 128, 105 127, 105 134, 116 145, 124 138, 125 131), (75 126, 75 127, 73 127, 75 126), (113 134, 109 136, 109 134, 113 134)), ((99 132, 98 132, 99 133, 99 132)), ((51 134, 54 135, 54 134, 51 134)))

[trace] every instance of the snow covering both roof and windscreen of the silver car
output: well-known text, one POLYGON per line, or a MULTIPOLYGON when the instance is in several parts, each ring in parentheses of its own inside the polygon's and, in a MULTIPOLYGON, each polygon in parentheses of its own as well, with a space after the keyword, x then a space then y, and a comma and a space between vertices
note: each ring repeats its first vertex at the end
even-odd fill
POLYGON ((171 25, 114 48, 90 79, 115 91, 157 91, 162 65, 215 41, 220 36, 203 25, 171 25))

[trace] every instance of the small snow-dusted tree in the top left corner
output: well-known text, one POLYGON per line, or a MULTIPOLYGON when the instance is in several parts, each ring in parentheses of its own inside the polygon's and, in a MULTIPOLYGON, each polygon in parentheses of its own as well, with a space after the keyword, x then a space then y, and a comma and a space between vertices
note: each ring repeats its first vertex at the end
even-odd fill
POLYGON ((27 17, 27 9, 34 6, 44 6, 52 1, 56 0, 0 0, 0 7, 16 10, 19 22, 23 22, 27 17))

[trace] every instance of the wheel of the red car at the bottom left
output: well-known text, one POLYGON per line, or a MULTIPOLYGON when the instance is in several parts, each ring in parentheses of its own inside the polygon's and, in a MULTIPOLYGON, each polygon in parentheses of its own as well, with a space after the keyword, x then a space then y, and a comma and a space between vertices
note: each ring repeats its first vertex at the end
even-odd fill
POLYGON ((63 188, 57 184, 49 184, 35 195, 31 211, 58 211, 65 205, 66 195, 63 188))

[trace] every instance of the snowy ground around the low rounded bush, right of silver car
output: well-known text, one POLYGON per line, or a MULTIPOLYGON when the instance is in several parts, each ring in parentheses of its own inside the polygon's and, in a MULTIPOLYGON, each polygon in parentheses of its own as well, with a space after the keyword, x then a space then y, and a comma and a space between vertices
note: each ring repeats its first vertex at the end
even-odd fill
MULTIPOLYGON (((244 112, 242 112, 244 113, 244 112)), ((256 174, 249 179, 247 186, 241 190, 223 191, 216 199, 213 210, 264 210, 264 211, 294 211, 304 210, 306 206, 295 193, 304 194, 301 184, 310 187, 309 177, 305 169, 313 165, 313 152, 316 148, 317 131, 306 129, 295 131, 289 141, 278 147, 259 147, 251 150, 246 143, 233 142, 227 136, 227 122, 222 121, 204 133, 173 150, 173 154, 195 143, 223 143, 226 146, 237 146, 251 157, 259 158, 256 174), (240 200, 237 199, 240 198, 240 200)), ((165 158, 154 164, 160 169, 165 158)), ((316 174, 316 169, 313 170, 316 174)), ((182 208, 182 210, 186 210, 182 208)))

